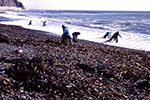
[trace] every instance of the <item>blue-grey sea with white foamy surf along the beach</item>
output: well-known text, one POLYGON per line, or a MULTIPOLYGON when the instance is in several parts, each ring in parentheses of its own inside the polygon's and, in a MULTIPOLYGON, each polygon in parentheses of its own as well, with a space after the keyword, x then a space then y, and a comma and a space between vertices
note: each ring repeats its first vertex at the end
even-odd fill
POLYGON ((150 51, 149 11, 71 11, 25 10, 0 12, 0 23, 43 30, 61 36, 62 25, 70 34, 80 32, 79 39, 107 45, 150 51), (32 20, 32 25, 28 25, 32 20), (46 21, 46 26, 43 22, 46 21), (119 31, 118 43, 102 38, 106 32, 119 31))

